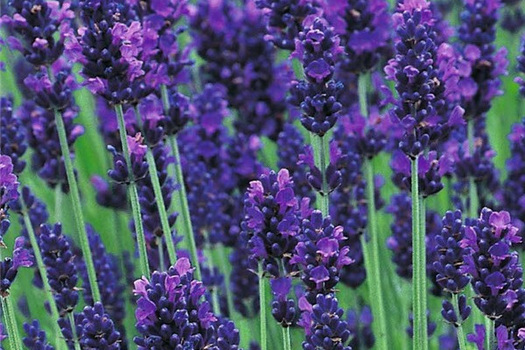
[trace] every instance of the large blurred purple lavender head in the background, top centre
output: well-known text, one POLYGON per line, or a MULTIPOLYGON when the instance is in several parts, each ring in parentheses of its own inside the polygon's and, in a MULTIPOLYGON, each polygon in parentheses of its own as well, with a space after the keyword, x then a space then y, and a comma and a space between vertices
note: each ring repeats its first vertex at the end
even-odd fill
POLYGON ((274 63, 276 50, 264 39, 263 18, 253 0, 200 1, 190 17, 196 50, 205 62, 201 79, 220 83, 238 110, 237 132, 276 139, 285 118, 289 70, 274 63), (213 20, 210 20, 213 18, 213 20))

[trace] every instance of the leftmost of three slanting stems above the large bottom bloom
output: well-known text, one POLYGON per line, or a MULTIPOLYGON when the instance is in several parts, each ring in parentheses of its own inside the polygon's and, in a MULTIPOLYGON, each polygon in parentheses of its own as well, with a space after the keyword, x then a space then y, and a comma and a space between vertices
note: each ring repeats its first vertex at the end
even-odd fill
POLYGON ((132 178, 128 186, 129 200, 131 202, 131 212, 133 220, 135 221, 135 231, 137 232, 137 245, 139 249, 139 266, 140 273, 143 276, 150 277, 150 269, 148 263, 148 253, 146 250, 146 237, 144 236, 144 227, 142 226, 142 216, 140 215, 139 195, 137 191, 137 184, 133 179, 133 169, 131 167, 131 157, 129 154, 128 140, 126 138, 126 124, 124 123, 124 113, 122 112, 122 105, 115 106, 117 113, 118 128, 120 134, 120 142, 122 144, 122 153, 128 167, 129 176, 132 178))

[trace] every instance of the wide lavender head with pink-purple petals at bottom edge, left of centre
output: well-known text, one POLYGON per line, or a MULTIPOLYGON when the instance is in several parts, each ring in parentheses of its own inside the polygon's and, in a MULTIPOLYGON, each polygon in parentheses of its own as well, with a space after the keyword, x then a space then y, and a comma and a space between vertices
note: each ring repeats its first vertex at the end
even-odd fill
MULTIPOLYGON (((224 339, 218 331, 221 322, 210 311, 207 301, 200 301, 206 289, 193 279, 190 262, 180 258, 168 272, 154 272, 148 281, 135 282, 139 349, 217 349, 227 341, 232 346, 238 338, 224 339)), ((226 327, 231 327, 226 324, 226 327)), ((232 330, 235 334, 235 330, 232 330)))

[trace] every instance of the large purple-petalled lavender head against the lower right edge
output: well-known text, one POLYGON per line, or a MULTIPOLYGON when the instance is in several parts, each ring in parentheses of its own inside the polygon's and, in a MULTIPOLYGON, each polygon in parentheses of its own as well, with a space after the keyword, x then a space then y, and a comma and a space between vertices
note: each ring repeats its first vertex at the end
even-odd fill
POLYGON ((484 208, 479 219, 466 222, 460 244, 469 251, 462 271, 471 276, 476 306, 496 325, 507 327, 514 341, 522 344, 525 339, 518 330, 525 325, 523 270, 512 250, 519 243, 521 237, 509 213, 484 208))

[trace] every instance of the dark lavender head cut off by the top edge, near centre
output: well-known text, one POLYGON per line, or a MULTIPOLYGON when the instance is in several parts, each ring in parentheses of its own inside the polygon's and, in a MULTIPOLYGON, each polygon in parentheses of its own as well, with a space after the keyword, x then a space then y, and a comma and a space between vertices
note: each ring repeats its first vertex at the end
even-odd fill
POLYGON ((267 16, 266 39, 290 51, 295 48, 303 20, 319 11, 312 0, 256 0, 255 3, 267 16))

